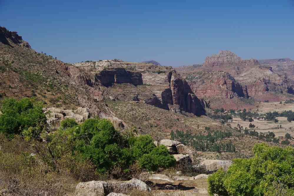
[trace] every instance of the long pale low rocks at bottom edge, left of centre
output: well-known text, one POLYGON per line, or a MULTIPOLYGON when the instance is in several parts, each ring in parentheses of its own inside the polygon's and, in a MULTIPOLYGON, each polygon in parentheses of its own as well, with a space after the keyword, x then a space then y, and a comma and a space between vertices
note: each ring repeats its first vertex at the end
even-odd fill
POLYGON ((150 191, 151 189, 141 180, 133 178, 120 184, 104 181, 80 182, 76 186, 74 194, 77 196, 106 196, 112 192, 119 193, 131 190, 150 191))

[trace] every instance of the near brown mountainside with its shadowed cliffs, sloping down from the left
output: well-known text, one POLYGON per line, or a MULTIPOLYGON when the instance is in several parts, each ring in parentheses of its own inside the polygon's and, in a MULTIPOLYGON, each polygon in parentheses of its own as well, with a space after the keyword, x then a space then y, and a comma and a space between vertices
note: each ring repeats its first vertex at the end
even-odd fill
POLYGON ((46 108, 69 113, 82 107, 92 117, 136 126, 138 134, 156 139, 169 139, 171 130, 207 126, 197 122, 195 128, 207 104, 172 67, 118 59, 69 64, 36 52, 4 27, 0 39, 0 99, 35 97, 46 108))

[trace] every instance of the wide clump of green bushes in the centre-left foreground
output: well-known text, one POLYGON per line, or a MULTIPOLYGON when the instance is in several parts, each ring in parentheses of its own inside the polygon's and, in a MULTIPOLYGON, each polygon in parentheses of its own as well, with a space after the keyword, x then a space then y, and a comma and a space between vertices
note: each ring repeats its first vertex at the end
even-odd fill
POLYGON ((173 166, 175 162, 166 147, 155 147, 150 135, 134 137, 129 132, 117 132, 107 119, 87 119, 81 124, 65 119, 50 137, 49 145, 52 145, 55 159, 61 159, 67 152, 73 157, 90 160, 99 173, 109 173, 115 168, 120 175, 126 174, 137 162, 142 169, 156 171, 173 166), (150 158, 148 164, 144 162, 146 157, 150 158))

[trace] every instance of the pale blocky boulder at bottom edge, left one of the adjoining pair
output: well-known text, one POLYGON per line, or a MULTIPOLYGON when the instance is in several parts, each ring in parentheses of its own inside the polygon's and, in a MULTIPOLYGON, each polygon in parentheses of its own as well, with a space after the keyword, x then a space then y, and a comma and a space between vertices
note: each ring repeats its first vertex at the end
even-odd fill
POLYGON ((76 186, 74 194, 76 196, 105 196, 112 192, 113 186, 111 183, 104 181, 80 182, 76 186))

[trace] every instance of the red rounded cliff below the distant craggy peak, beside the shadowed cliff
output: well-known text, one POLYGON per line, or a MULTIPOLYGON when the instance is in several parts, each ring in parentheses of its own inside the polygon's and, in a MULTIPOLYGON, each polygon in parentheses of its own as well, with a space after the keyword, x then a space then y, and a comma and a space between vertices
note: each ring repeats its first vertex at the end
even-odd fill
POLYGON ((221 71, 195 72, 186 77, 197 97, 248 98, 247 86, 239 84, 229 73, 221 71))

